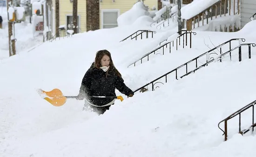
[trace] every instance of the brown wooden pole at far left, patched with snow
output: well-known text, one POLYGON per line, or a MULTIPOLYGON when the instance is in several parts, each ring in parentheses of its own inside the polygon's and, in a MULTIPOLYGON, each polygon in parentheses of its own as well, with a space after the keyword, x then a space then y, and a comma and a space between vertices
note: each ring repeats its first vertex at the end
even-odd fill
MULTIPOLYGON (((9 56, 13 56, 16 54, 16 48, 15 48, 15 41, 16 39, 12 39, 13 35, 13 26, 15 21, 10 21, 9 14, 8 14, 8 9, 9 5, 13 6, 13 0, 8 0, 7 1, 7 15, 8 15, 8 44, 9 44, 9 56), (12 25, 13 24, 13 25, 12 25)), ((13 16, 13 15, 12 15, 13 16)), ((13 17, 14 18, 14 17, 13 17)))

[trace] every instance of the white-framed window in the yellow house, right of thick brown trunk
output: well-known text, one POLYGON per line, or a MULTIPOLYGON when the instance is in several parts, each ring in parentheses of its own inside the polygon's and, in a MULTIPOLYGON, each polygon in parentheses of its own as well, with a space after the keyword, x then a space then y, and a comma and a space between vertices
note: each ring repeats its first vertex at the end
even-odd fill
POLYGON ((102 10, 101 13, 102 28, 114 28, 118 26, 117 18, 119 16, 119 10, 102 10))

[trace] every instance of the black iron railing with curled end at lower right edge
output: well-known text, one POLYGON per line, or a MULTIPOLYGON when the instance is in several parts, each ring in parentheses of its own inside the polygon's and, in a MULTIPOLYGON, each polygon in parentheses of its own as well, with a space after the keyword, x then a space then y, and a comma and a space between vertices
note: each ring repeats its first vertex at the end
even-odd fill
POLYGON ((235 113, 231 114, 229 117, 227 117, 227 118, 225 118, 225 119, 223 119, 222 121, 219 122, 218 127, 223 132, 222 135, 225 135, 224 136, 225 141, 228 139, 228 120, 236 117, 237 115, 239 115, 239 131, 238 131, 239 133, 241 133, 243 135, 244 133, 249 132, 249 130, 251 130, 251 129, 252 129, 252 131, 254 131, 254 127, 256 126, 256 123, 254 123, 254 105, 255 104, 256 104, 256 100, 254 100, 253 102, 249 103, 245 107, 241 108, 240 110, 236 111, 235 113), (243 113, 245 110, 247 110, 251 107, 252 107, 252 125, 249 128, 241 131, 241 113, 243 113), (223 131, 220 128, 220 124, 222 122, 224 122, 224 130, 225 131, 223 131))

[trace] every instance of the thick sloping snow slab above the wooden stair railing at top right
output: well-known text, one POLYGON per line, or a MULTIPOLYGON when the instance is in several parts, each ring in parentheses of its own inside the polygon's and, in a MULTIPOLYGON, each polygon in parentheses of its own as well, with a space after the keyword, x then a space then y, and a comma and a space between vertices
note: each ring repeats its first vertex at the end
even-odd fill
POLYGON ((195 0, 182 7, 182 19, 190 19, 218 1, 219 0, 195 0))

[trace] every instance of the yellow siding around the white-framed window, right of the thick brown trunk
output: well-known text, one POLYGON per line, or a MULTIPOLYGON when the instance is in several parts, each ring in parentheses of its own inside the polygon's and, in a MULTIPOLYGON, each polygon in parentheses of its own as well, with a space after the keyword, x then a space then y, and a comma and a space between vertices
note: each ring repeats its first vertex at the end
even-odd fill
MULTIPOLYGON (((101 12, 103 9, 119 9, 121 15, 130 10, 136 2, 137 0, 116 0, 115 2, 112 0, 102 0, 102 2, 100 2, 100 28, 102 28, 101 12)), ((145 0, 144 4, 149 8, 152 8, 153 6, 157 8, 157 0, 145 0)))

